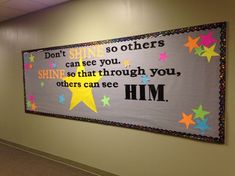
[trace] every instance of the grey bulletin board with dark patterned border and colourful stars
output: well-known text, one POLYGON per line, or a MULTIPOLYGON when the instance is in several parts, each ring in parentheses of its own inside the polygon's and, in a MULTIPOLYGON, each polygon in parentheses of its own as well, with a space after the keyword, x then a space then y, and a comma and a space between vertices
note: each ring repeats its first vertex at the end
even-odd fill
POLYGON ((225 22, 25 50, 25 112, 224 143, 225 55, 225 22))

